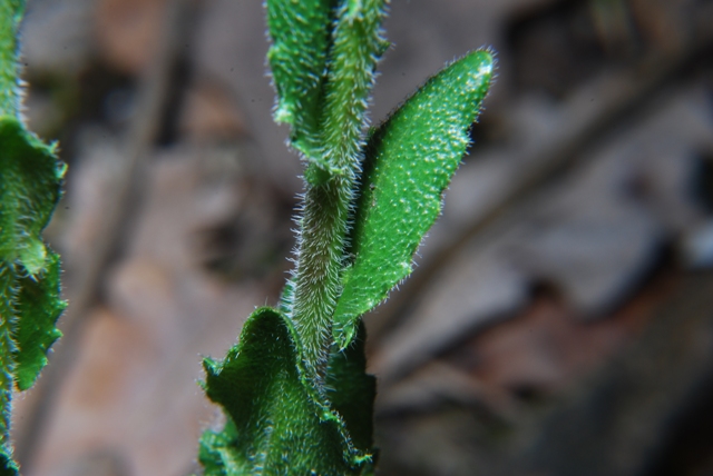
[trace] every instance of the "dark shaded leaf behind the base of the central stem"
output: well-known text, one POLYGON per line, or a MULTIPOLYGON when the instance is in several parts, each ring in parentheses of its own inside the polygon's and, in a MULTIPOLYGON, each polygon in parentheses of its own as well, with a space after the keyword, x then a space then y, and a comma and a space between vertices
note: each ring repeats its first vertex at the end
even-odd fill
POLYGON ((367 328, 361 323, 358 337, 346 349, 332 348, 324 387, 332 408, 344 419, 354 446, 371 450, 377 379, 367 374, 365 341, 367 328))

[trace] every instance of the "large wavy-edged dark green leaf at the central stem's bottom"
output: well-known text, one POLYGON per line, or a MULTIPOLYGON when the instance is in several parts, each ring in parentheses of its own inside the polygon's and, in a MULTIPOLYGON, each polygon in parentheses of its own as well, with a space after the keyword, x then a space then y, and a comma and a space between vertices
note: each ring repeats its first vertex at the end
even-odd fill
POLYGON ((229 420, 202 439, 211 475, 358 475, 371 456, 304 377, 296 334, 277 310, 258 308, 225 360, 205 359, 205 389, 229 420))

